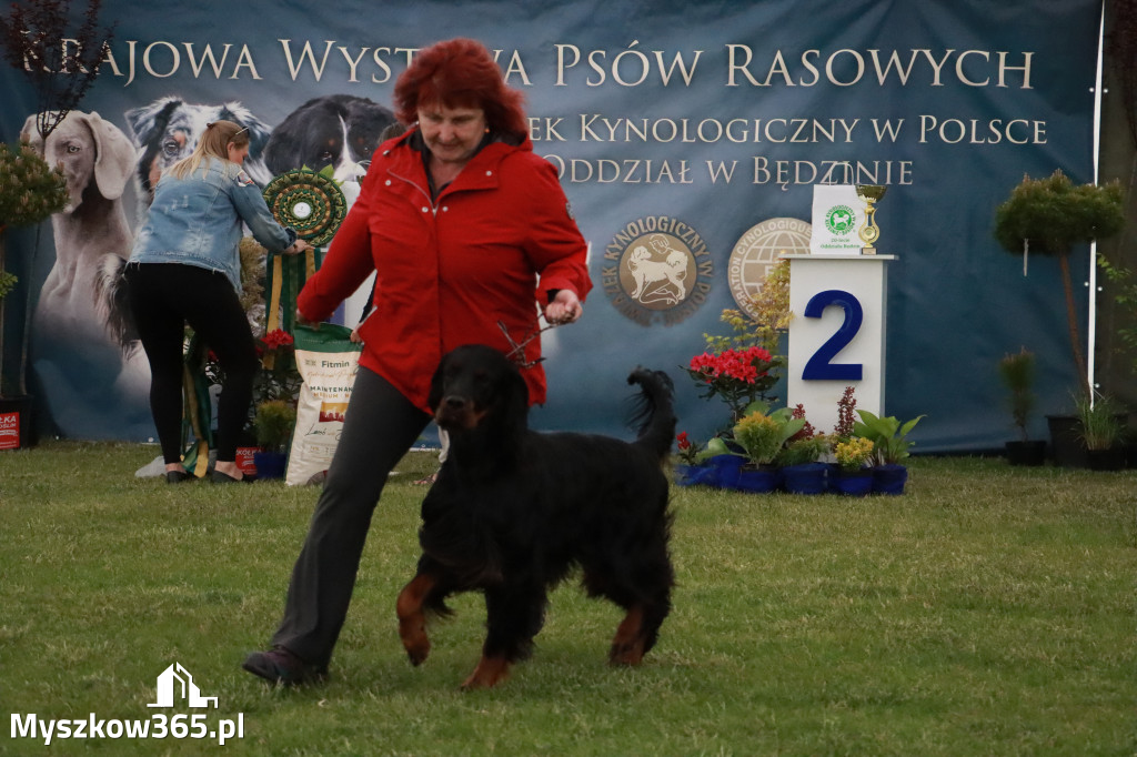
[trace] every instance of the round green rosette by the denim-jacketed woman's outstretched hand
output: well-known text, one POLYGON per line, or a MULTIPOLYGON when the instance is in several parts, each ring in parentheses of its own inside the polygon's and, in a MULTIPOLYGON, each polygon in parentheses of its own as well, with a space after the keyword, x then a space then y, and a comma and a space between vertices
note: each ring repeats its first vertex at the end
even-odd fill
POLYGON ((348 215, 348 202, 335 180, 309 168, 280 174, 264 194, 276 223, 291 226, 313 247, 330 242, 348 215))

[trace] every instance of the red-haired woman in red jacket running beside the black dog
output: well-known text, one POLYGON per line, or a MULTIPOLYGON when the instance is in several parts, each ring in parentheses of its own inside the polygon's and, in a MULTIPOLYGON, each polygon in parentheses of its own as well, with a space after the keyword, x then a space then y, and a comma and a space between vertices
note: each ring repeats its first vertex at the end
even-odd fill
MULTIPOLYGON (((555 168, 533 153, 522 95, 473 40, 422 50, 399 76, 399 120, 359 199, 297 301, 326 318, 372 271, 374 313, 343 433, 289 585, 272 649, 244 669, 274 683, 321 680, 351 600, 388 474, 431 421, 431 375, 468 343, 503 352, 549 323, 576 321, 591 289, 587 246, 555 168), (509 333, 507 338, 499 322, 509 333)), ((525 347, 532 404, 545 401, 540 340, 525 347)))

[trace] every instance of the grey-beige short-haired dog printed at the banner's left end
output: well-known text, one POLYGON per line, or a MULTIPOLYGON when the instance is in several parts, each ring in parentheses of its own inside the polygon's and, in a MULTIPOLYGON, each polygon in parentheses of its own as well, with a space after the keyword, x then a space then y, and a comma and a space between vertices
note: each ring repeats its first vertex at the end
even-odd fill
POLYGON ((66 435, 105 434, 144 423, 150 371, 133 335, 117 277, 133 233, 123 196, 135 161, 125 133, 97 113, 72 111, 40 136, 36 115, 20 139, 67 181, 67 206, 51 217, 55 260, 32 321, 32 368, 39 392, 66 435))

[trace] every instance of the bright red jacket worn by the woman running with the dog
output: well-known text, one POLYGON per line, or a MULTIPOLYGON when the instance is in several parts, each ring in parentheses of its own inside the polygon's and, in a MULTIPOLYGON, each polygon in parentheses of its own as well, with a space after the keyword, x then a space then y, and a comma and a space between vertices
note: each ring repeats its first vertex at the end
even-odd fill
MULTIPOLYGON (((549 290, 571 289, 583 301, 592 284, 556 169, 532 142, 484 147, 432 205, 422 155, 408 144, 413 133, 375 151, 359 198, 297 306, 308 321, 324 321, 376 271, 359 363, 429 411, 442 355, 470 343, 508 352, 499 321, 520 343, 537 330, 549 290)), ((526 361, 540 352, 534 339, 526 361)), ((545 371, 522 373, 530 404, 543 402, 545 371)))

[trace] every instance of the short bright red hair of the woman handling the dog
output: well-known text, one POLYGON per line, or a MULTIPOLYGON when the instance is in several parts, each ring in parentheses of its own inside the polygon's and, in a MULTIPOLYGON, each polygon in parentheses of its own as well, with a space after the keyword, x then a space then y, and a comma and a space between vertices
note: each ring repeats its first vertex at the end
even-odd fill
POLYGON ((523 100, 520 91, 506 86, 485 45, 464 38, 418 51, 395 83, 395 115, 404 124, 417 122, 423 105, 481 108, 491 132, 518 140, 529 134, 523 100))

